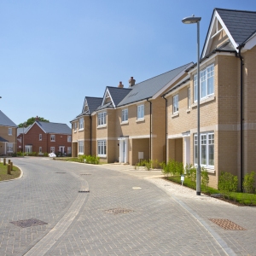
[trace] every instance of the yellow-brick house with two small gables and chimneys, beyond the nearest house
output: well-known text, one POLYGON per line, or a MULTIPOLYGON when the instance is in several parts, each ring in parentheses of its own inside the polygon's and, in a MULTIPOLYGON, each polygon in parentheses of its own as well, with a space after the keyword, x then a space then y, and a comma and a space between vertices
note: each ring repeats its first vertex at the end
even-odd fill
MULTIPOLYGON (((93 110, 86 112, 87 108, 83 108, 84 118, 79 115, 71 121, 73 145, 79 148, 73 156, 91 152, 104 162, 132 165, 143 159, 166 160, 166 102, 160 96, 183 79, 192 65, 188 63, 138 84, 131 77, 129 88, 121 82, 118 87, 107 86, 102 99, 97 98, 95 109, 90 108, 89 97, 85 97, 84 106, 93 110), (80 119, 82 131, 76 138, 80 119), (86 149, 76 141, 86 144, 86 149)), ((94 102, 94 98, 90 99, 94 102)))

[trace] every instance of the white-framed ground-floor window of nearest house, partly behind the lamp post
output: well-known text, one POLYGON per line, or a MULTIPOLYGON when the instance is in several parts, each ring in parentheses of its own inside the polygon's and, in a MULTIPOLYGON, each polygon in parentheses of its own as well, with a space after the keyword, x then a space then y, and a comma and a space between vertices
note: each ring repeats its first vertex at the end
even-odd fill
MULTIPOLYGON (((197 134, 194 136, 194 162, 198 163, 197 156, 197 134)), ((201 166, 214 166, 214 133, 207 132, 201 134, 201 166)))

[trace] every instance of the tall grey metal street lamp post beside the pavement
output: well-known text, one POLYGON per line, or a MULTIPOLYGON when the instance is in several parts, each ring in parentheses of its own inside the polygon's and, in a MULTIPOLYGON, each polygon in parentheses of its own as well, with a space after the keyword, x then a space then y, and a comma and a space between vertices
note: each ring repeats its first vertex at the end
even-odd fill
POLYGON ((201 17, 184 18, 184 24, 197 23, 197 169, 196 169, 196 195, 201 195, 201 159, 200 159, 200 20, 201 17))

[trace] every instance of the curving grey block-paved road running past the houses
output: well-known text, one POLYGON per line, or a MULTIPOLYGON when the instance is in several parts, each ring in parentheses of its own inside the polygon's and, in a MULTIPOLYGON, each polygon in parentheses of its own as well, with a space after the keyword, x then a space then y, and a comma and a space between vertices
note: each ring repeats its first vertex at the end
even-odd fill
MULTIPOLYGON (((24 174, 0 183, 1 256, 256 255, 252 208, 244 218, 253 224, 243 221, 247 231, 229 230, 230 235, 207 220, 212 209, 219 215, 218 204, 173 197, 160 188, 160 179, 149 182, 109 166, 12 160, 24 174), (10 223, 31 218, 46 224, 10 223), (241 236, 243 243, 237 243, 241 236)), ((242 214, 237 208, 221 205, 221 218, 230 211, 242 214)))

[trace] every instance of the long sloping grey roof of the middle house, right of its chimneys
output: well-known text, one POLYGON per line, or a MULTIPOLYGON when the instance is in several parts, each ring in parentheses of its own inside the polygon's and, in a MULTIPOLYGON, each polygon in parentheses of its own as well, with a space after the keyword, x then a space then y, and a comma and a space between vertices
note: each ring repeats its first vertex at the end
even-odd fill
POLYGON ((141 83, 135 84, 131 87, 131 91, 125 98, 119 102, 118 106, 123 106, 133 102, 140 102, 145 99, 153 97, 161 89, 164 89, 173 79, 177 79, 179 74, 183 74, 185 70, 191 66, 192 62, 177 67, 169 72, 162 73, 152 79, 145 80, 141 83))

